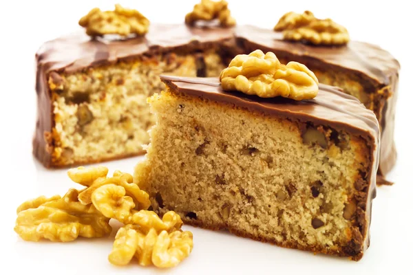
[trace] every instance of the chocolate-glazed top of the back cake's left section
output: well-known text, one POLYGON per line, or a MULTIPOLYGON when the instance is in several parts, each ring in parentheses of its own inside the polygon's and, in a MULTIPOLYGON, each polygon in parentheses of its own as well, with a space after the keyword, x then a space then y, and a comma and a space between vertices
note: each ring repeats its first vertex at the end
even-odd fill
POLYGON ((231 38, 233 28, 194 28, 184 24, 151 24, 144 37, 125 39, 115 35, 92 39, 82 30, 44 43, 36 53, 36 61, 46 73, 70 73, 144 54, 208 49, 211 43, 231 38))

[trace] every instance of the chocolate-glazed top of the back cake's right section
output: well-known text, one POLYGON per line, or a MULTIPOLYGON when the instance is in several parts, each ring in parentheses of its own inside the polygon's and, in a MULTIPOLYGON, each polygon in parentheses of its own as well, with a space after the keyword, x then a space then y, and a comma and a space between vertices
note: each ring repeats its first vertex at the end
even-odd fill
POLYGON ((284 40, 282 32, 252 25, 237 28, 235 36, 248 50, 259 48, 264 52, 275 52, 277 56, 281 51, 308 58, 312 63, 329 63, 368 76, 379 85, 390 85, 390 76, 399 74, 399 62, 389 52, 369 43, 350 41, 339 47, 306 45, 284 40))

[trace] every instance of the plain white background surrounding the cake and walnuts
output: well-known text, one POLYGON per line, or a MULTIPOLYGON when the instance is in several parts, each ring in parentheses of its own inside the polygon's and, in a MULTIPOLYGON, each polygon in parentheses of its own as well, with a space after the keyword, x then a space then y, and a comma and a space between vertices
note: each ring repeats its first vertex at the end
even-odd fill
MULTIPOLYGON (((136 8, 152 22, 179 23, 196 1, 119 2, 136 8)), ((368 41, 390 51, 401 63, 396 113, 399 158, 374 199, 371 246, 355 263, 332 256, 277 248, 196 228, 193 253, 181 265, 161 271, 176 274, 412 274, 412 12, 410 1, 235 1, 229 0, 238 24, 273 28, 279 17, 294 10, 311 10, 348 28, 354 40, 368 41)), ((116 1, 1 1, 0 15, 0 274, 150 274, 155 268, 135 264, 114 267, 107 261, 109 239, 72 243, 24 242, 14 233, 15 209, 39 195, 63 195, 74 186, 66 170, 45 170, 32 157, 35 125, 34 53, 47 40, 78 30, 77 21, 91 8, 112 9, 116 1)), ((142 157, 109 162, 132 173, 142 157)), ((115 225, 116 226, 116 225, 115 225)))

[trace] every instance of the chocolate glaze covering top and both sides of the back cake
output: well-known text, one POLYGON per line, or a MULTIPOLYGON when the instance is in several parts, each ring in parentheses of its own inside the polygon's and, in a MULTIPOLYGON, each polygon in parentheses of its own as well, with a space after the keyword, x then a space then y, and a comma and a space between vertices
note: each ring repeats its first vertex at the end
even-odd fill
MULTIPOLYGON (((34 136, 35 155, 50 166, 50 155, 45 151, 44 133, 52 130, 50 91, 47 74, 52 71, 72 73, 88 67, 106 65, 133 58, 166 52, 198 52, 218 47, 224 58, 249 53, 256 49, 272 51, 280 58, 305 63, 310 69, 332 70, 354 74, 365 81, 368 92, 388 87, 390 96, 382 104, 379 120, 382 130, 382 151, 379 174, 385 175, 394 166, 396 151, 393 142, 394 104, 399 63, 380 47, 368 43, 350 42, 343 47, 320 47, 282 40, 273 30, 253 26, 236 28, 191 28, 184 24, 151 24, 145 37, 118 39, 105 36, 91 40, 79 31, 45 43, 36 54, 38 122, 34 136), (236 42, 236 43, 235 43, 236 42), (382 114, 382 115, 380 115, 382 114)), ((384 100, 384 99, 383 99, 384 100)), ((49 144, 52 146, 52 144, 49 144)))

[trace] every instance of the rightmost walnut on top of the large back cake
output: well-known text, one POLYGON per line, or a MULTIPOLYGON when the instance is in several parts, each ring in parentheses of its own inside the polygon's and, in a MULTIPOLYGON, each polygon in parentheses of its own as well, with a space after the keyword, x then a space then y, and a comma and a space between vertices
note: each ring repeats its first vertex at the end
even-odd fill
POLYGON ((305 41, 314 45, 344 45, 350 41, 346 28, 331 19, 317 19, 308 10, 303 14, 288 12, 279 19, 274 30, 284 39, 305 41))

